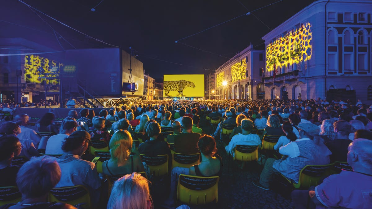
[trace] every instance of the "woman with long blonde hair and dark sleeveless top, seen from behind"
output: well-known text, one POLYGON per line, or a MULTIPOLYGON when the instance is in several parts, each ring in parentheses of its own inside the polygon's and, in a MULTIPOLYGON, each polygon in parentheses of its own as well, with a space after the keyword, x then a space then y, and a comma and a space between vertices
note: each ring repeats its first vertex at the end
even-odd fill
POLYGON ((108 176, 123 176, 145 171, 139 153, 132 144, 132 136, 128 131, 116 131, 109 144, 111 157, 102 163, 102 173, 108 176))

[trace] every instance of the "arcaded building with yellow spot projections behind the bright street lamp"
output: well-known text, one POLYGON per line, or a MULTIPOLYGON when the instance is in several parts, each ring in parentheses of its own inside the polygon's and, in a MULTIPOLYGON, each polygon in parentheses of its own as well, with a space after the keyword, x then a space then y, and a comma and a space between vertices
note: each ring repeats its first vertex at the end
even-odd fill
POLYGON ((225 62, 214 74, 215 99, 260 99, 264 63, 264 51, 253 45, 225 62))

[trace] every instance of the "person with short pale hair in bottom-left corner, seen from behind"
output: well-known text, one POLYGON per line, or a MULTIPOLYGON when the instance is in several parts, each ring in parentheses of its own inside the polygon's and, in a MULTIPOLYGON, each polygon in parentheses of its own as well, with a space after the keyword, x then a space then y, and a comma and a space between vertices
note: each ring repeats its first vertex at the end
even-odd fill
POLYGON ((19 169, 17 186, 22 194, 22 201, 9 203, 4 209, 76 209, 65 203, 45 202, 48 192, 61 179, 61 169, 53 157, 43 156, 32 158, 19 169))

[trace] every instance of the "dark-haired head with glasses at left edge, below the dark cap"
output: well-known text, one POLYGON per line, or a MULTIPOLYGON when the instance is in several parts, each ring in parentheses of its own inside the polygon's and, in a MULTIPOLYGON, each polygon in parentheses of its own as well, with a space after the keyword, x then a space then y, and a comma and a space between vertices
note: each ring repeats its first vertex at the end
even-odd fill
POLYGON ((0 162, 17 157, 22 151, 22 144, 15 135, 5 135, 0 137, 0 162))

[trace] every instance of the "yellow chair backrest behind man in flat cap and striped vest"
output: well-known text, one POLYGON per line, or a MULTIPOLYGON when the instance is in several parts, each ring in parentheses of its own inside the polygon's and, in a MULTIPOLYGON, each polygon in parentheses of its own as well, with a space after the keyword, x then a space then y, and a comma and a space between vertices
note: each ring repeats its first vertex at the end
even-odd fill
POLYGON ((296 189, 308 189, 311 186, 317 186, 320 179, 326 176, 327 170, 333 166, 333 164, 327 165, 306 165, 300 171, 300 177, 298 184, 293 186, 296 189))

